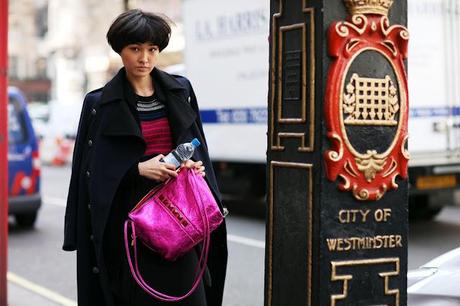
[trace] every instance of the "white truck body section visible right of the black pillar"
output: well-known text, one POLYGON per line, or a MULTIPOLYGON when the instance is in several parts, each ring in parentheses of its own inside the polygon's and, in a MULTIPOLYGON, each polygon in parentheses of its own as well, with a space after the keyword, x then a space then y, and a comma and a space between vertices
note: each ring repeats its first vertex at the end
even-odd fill
MULTIPOLYGON (((409 149, 412 166, 459 162, 458 1, 409 0, 409 149), (458 13, 458 12, 457 12, 458 13), (454 29, 453 24, 456 24, 454 29), (455 36, 455 37, 454 37, 455 36), (452 157, 458 160, 452 160, 452 157)), ((459 126, 460 127, 460 126, 459 126)))

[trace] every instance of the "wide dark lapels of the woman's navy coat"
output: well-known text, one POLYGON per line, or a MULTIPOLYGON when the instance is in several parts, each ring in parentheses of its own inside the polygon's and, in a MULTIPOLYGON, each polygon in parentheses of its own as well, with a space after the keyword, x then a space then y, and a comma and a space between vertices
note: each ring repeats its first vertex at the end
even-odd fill
MULTIPOLYGON (((157 68, 152 71, 155 90, 164 96, 169 125, 175 144, 182 141, 181 136, 193 124, 196 114, 188 102, 189 90, 175 77, 157 68)), ((101 106, 112 104, 102 132, 109 135, 133 135, 142 137, 136 113, 136 95, 122 68, 102 90, 101 106)))

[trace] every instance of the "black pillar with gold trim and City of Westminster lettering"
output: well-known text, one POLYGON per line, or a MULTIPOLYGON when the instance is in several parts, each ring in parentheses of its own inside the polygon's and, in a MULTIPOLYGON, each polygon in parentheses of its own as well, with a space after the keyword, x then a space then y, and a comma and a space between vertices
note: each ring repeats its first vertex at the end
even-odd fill
POLYGON ((266 306, 406 305, 406 15, 271 1, 266 306))

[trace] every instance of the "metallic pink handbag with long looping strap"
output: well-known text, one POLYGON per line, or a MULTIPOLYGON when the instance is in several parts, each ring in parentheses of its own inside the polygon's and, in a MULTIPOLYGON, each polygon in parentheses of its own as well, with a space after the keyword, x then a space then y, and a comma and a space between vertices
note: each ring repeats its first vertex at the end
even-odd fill
POLYGON ((206 269, 211 232, 223 221, 223 215, 206 181, 192 169, 182 169, 177 178, 152 189, 128 214, 124 238, 126 256, 136 282, 151 296, 175 302, 190 296, 206 269), (128 229, 131 229, 131 258, 128 229), (192 288, 182 296, 170 296, 151 288, 142 278, 137 263, 136 241, 167 260, 175 260, 202 243, 201 255, 192 288))

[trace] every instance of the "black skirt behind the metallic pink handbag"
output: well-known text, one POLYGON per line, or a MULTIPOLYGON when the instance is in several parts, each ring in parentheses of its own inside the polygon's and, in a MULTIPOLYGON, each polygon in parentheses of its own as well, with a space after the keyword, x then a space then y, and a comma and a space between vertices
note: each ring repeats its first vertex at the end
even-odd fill
MULTIPOLYGON (((103 253, 115 305, 207 306, 203 281, 191 296, 172 304, 151 297, 131 275, 124 247, 123 226, 128 212, 153 186, 151 181, 133 180, 131 177, 131 179, 122 182, 113 201, 114 205, 104 235, 103 253)), ((150 287, 173 296, 184 295, 190 290, 199 259, 197 250, 194 249, 175 261, 167 261, 140 241, 138 241, 137 247, 139 271, 150 287)))

